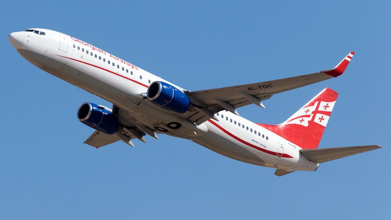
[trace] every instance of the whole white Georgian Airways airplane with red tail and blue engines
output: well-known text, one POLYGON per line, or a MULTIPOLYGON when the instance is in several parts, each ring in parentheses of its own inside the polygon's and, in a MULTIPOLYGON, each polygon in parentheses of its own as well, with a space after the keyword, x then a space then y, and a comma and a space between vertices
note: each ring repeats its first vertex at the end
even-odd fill
POLYGON ((190 91, 85 41, 48 29, 9 34, 13 47, 27 61, 53 76, 113 104, 83 103, 81 123, 95 129, 84 143, 100 148, 116 141, 134 147, 133 139, 158 134, 189 139, 226 157, 276 169, 283 176, 316 171, 319 164, 379 145, 318 148, 338 92, 323 89, 291 117, 277 125, 253 123, 237 108, 274 94, 343 74, 354 52, 333 69, 246 85, 190 91))

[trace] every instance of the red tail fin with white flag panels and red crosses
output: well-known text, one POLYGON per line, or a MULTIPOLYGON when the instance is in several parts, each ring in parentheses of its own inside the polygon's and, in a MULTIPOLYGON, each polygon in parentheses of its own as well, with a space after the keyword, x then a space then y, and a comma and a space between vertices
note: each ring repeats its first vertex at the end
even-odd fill
POLYGON ((337 92, 325 88, 282 124, 259 125, 300 146, 302 149, 317 148, 337 96, 337 92))

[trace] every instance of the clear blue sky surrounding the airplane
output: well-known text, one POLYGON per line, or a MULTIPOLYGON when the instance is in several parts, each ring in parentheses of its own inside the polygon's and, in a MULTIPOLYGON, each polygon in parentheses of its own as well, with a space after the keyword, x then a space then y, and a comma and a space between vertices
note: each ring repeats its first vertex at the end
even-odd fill
POLYGON ((391 218, 389 1, 38 2, 0 3, 1 219, 391 218), (97 150, 77 108, 111 104, 24 60, 7 36, 32 27, 188 90, 331 69, 354 51, 341 77, 238 112, 278 124, 330 87, 339 97, 319 148, 384 148, 283 177, 166 135, 97 150))

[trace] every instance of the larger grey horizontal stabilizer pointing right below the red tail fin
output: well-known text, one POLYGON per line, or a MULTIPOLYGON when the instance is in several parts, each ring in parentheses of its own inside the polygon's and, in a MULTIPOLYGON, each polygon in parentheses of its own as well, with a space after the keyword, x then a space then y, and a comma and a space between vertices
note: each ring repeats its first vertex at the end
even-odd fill
POLYGON ((300 153, 308 160, 312 160, 320 164, 330 160, 335 160, 342 157, 355 155, 357 153, 376 150, 378 148, 382 148, 382 147, 379 145, 367 145, 367 146, 353 146, 353 147, 340 147, 340 148, 317 148, 317 149, 300 150, 300 153))

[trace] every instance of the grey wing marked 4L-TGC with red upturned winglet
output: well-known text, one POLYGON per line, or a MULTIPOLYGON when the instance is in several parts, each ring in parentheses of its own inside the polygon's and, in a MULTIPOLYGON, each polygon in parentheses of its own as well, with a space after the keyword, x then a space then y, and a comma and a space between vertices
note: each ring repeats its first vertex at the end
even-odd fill
POLYGON ((353 54, 354 52, 350 52, 331 70, 260 83, 187 92, 190 101, 196 107, 196 111, 187 119, 196 124, 201 124, 209 118, 213 118, 213 114, 222 110, 237 114, 235 108, 251 103, 264 108, 265 106, 261 101, 269 99, 273 94, 340 76, 348 66, 353 54))

